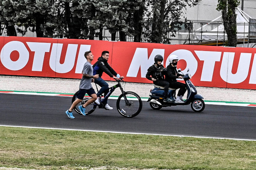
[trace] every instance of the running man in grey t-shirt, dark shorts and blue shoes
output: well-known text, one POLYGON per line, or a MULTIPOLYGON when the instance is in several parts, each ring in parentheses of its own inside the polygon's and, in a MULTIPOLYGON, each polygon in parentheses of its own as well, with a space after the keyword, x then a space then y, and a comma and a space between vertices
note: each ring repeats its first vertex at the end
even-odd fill
POLYGON ((80 85, 79 85, 79 91, 76 95, 76 100, 72 103, 71 107, 66 111, 66 114, 70 119, 74 119, 73 116, 73 109, 75 106, 80 103, 84 95, 87 93, 91 98, 83 105, 79 105, 80 112, 82 115, 85 116, 85 107, 89 104, 93 103, 97 99, 97 95, 95 93, 95 90, 93 89, 93 86, 91 86, 91 82, 94 81, 94 79, 99 78, 99 75, 93 75, 93 67, 91 66, 91 61, 94 59, 93 53, 91 51, 86 51, 84 53, 85 58, 87 59, 87 62, 84 64, 84 68, 82 71, 83 77, 81 79, 80 85))

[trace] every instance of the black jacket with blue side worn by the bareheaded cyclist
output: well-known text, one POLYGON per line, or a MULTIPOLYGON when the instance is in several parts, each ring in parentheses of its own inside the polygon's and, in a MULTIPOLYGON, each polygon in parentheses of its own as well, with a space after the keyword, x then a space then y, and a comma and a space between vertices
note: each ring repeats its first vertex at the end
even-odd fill
POLYGON ((98 61, 93 65, 93 75, 99 74, 99 77, 101 77, 103 72, 108 74, 110 77, 117 75, 115 70, 109 65, 108 61, 103 57, 99 57, 98 61))

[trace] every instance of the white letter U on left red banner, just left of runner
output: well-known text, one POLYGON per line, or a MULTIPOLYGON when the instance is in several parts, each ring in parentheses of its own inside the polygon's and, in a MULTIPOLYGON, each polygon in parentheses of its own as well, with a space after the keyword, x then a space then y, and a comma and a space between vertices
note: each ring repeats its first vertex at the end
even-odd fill
POLYGON ((53 43, 49 65, 57 73, 67 73, 74 67, 77 44, 69 44, 65 57, 65 62, 60 64, 60 56, 63 44, 53 43))

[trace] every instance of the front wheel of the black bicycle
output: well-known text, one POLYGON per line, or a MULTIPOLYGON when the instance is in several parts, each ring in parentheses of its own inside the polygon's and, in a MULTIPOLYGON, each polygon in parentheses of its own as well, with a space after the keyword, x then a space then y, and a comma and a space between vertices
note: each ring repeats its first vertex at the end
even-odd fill
POLYGON ((142 109, 142 101, 139 95, 132 91, 124 92, 116 102, 118 112, 124 117, 137 116, 142 109))

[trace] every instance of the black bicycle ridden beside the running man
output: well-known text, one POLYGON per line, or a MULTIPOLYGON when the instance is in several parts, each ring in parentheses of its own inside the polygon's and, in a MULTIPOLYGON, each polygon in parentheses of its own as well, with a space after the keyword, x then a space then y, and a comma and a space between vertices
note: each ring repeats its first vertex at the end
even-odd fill
MULTIPOLYGON (((118 97, 117 101, 116 101, 116 107, 117 107, 117 111, 124 117, 134 117, 137 116, 141 109, 142 109, 142 101, 141 98, 138 94, 136 94, 133 91, 124 91, 121 85, 121 81, 123 81, 123 79, 118 79, 116 80, 117 84, 110 87, 109 88, 109 92, 106 96, 104 96, 104 99, 102 100, 102 96, 100 96, 100 104, 96 104, 91 103, 89 104, 85 109, 85 114, 89 115, 91 113, 93 113, 95 111, 95 109, 97 108, 97 106, 99 108, 104 108, 105 105, 107 104, 106 101, 107 99, 110 97, 110 95, 112 94, 113 91, 115 91, 116 88, 120 88, 122 94, 118 97)), ((96 86, 97 87, 97 86, 96 86)), ((98 90, 98 88, 97 88, 98 90)), ((78 91, 77 91, 78 92, 78 91)), ((77 92, 74 94, 73 98, 72 98, 72 103, 76 100, 76 94, 77 92)), ((82 102, 80 102, 78 105, 76 105, 76 107, 74 108, 74 110, 80 114, 80 110, 78 108, 79 105, 83 105, 84 103, 87 102, 87 100, 89 100, 90 97, 84 97, 84 99, 82 100, 82 102)))

